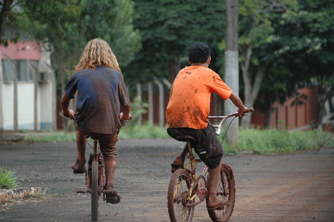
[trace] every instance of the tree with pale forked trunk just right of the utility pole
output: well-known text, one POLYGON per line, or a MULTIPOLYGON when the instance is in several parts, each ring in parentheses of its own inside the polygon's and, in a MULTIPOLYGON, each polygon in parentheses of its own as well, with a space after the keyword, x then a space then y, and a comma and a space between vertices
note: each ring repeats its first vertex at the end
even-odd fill
MULTIPOLYGON (((250 108, 258 98, 268 65, 273 62, 266 54, 257 53, 264 44, 272 42, 275 30, 271 17, 290 10, 289 7, 294 7, 296 1, 242 0, 239 5, 239 61, 244 83, 244 104, 250 108)), ((221 48, 225 48, 225 40, 222 41, 221 48)), ((249 118, 241 119, 241 126, 250 125, 252 113, 248 115, 249 118)))

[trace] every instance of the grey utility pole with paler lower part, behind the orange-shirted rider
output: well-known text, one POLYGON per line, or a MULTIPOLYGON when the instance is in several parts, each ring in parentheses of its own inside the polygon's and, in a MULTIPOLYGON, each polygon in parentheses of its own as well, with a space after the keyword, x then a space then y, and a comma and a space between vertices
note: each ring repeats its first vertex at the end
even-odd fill
MULTIPOLYGON (((225 83, 232 91, 239 95, 239 53, 238 53, 238 0, 226 0, 226 50, 225 50, 225 83)), ((236 112, 237 108, 230 99, 224 103, 224 113, 228 115, 236 112)), ((225 122, 229 126, 233 118, 225 122)), ((239 119, 231 123, 226 134, 230 145, 238 144, 239 119)))

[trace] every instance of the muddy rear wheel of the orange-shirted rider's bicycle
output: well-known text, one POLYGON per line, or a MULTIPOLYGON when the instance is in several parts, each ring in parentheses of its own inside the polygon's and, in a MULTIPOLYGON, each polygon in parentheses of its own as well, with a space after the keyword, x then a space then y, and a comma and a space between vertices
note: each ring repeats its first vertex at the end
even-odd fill
MULTIPOLYGON (((190 189, 190 176, 189 173, 184 169, 176 170, 169 182, 168 187, 168 213, 171 222, 190 222, 194 215, 195 206, 185 206, 182 197, 190 189), (179 198, 174 198, 179 197, 179 198)), ((189 202, 192 203, 193 201, 189 202)))

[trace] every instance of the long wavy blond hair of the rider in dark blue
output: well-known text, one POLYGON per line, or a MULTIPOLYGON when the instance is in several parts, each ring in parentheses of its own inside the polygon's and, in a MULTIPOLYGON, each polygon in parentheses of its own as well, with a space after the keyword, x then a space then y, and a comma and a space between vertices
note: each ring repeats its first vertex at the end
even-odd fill
POLYGON ((121 72, 113 50, 111 50, 109 44, 101 38, 92 39, 87 43, 80 55, 78 64, 74 68, 74 72, 85 68, 95 69, 97 65, 109 67, 121 72))

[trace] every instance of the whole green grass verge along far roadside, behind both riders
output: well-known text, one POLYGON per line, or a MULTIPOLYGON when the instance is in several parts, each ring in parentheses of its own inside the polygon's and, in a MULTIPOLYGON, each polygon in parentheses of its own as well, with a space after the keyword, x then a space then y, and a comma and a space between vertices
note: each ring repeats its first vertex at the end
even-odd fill
MULTIPOLYGON (((166 128, 159 128, 148 123, 139 128, 135 123, 125 123, 119 134, 120 139, 129 138, 170 138, 166 128)), ((28 133, 28 132, 27 132, 28 133)), ((29 134, 29 133, 28 133, 29 134)), ((223 136, 219 136, 222 140, 223 136)), ((75 141, 75 132, 53 132, 44 134, 30 133, 30 142, 67 142, 75 141)), ((316 150, 319 148, 334 148, 334 134, 318 130, 287 131, 240 129, 239 144, 228 146, 223 143, 224 155, 261 154, 275 155, 293 153, 299 150, 316 150)))

